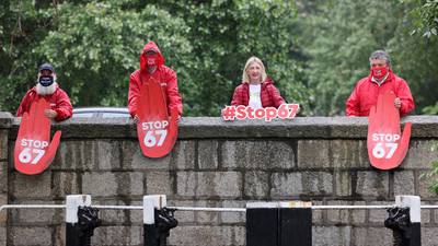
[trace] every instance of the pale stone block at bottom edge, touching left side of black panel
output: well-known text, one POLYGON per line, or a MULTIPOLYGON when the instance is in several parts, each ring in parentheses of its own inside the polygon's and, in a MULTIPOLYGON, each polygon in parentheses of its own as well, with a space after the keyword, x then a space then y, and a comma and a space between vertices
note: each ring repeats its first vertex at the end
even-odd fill
POLYGON ((172 230, 170 245, 178 246, 243 246, 242 226, 177 226, 172 230))

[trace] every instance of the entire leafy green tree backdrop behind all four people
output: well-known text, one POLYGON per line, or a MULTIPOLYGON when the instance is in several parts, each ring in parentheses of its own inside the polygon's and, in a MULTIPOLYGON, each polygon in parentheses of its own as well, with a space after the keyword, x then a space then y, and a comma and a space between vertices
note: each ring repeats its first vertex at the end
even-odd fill
POLYGON ((54 63, 73 106, 126 106, 154 40, 178 74, 185 116, 218 116, 258 56, 302 115, 343 115, 376 49, 392 56, 416 114, 438 113, 437 0, 3 0, 0 109, 15 112, 54 63))

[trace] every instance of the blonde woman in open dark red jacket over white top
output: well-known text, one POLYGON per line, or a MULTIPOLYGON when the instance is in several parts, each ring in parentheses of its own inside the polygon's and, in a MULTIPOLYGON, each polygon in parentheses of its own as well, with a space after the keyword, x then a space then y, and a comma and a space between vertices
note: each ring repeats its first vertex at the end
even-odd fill
POLYGON ((285 103, 274 81, 266 75, 265 66, 257 57, 251 57, 243 69, 242 83, 234 90, 232 106, 251 106, 252 108, 275 107, 285 103))

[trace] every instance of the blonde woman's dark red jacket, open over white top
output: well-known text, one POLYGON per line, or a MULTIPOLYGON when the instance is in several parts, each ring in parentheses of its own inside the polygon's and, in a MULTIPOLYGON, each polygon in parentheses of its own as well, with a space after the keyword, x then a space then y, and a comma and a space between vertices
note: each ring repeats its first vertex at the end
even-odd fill
MULTIPOLYGON (((274 86, 274 82, 267 78, 261 86, 261 102, 262 107, 276 107, 278 108, 285 103, 278 90, 274 86)), ((250 103, 250 83, 243 82, 235 87, 231 105, 247 106, 250 103)))

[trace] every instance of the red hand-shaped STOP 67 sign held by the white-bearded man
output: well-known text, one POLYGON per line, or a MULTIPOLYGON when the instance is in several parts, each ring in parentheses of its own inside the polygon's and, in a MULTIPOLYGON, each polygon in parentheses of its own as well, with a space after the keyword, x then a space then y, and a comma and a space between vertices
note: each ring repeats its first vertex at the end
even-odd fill
POLYGON ((43 98, 38 99, 21 119, 14 162, 15 168, 23 174, 39 174, 55 159, 61 132, 57 131, 50 142, 50 119, 44 116, 47 108, 50 108, 49 104, 43 98))

